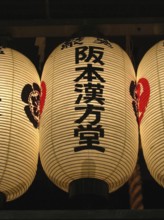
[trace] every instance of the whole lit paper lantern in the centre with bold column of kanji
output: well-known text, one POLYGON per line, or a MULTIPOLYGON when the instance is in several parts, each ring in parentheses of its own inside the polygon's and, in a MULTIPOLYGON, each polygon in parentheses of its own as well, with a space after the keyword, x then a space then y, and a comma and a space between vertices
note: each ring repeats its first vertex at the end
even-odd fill
POLYGON ((88 193, 100 185, 112 192, 131 176, 138 155, 129 90, 134 80, 128 55, 102 38, 74 38, 48 57, 41 80, 40 158, 62 190, 74 194, 83 183, 88 193))

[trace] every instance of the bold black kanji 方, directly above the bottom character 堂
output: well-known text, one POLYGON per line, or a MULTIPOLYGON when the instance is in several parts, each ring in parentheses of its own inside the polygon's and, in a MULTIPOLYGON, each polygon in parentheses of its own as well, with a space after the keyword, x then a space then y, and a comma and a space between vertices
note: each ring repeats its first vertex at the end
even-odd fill
POLYGON ((101 119, 101 111, 104 111, 104 107, 94 106, 87 104, 87 106, 75 107, 75 110, 85 110, 84 114, 77 119, 76 123, 82 123, 89 115, 95 115, 95 119, 93 121, 88 122, 91 125, 95 125, 100 122, 101 119))

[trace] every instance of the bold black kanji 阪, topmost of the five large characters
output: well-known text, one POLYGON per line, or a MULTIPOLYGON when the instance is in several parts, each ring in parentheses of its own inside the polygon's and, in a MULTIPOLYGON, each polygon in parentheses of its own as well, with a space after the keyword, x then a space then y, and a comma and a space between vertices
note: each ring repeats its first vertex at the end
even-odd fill
POLYGON ((80 61, 84 60, 89 62, 92 58, 93 63, 100 63, 104 65, 104 62, 101 60, 103 57, 104 48, 102 47, 93 47, 93 46, 82 46, 75 48, 75 62, 78 64, 80 61))

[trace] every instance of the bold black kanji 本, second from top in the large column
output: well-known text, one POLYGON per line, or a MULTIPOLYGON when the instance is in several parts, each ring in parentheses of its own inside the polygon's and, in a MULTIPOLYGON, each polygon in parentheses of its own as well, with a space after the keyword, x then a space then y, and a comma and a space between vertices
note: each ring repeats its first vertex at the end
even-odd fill
POLYGON ((104 69, 101 67, 94 67, 92 64, 87 64, 85 67, 77 67, 76 71, 83 71, 80 76, 78 76, 74 81, 78 82, 80 79, 87 79, 87 81, 92 82, 93 79, 98 79, 101 82, 105 82, 104 78, 98 74, 97 71, 103 72, 104 69))

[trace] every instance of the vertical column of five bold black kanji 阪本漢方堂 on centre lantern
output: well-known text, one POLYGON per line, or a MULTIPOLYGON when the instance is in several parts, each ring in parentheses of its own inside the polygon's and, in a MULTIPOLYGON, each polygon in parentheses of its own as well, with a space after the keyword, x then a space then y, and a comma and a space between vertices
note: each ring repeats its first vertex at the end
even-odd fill
POLYGON ((77 77, 74 79, 77 93, 75 111, 81 112, 81 116, 75 120, 78 126, 74 129, 74 137, 80 139, 79 146, 74 148, 75 152, 86 149, 105 151, 99 140, 100 137, 104 137, 104 128, 101 125, 101 114, 105 110, 103 55, 102 47, 75 48, 75 71, 77 72, 77 77))

